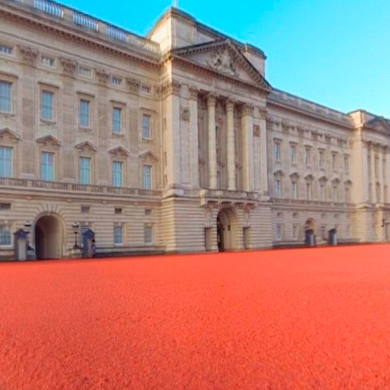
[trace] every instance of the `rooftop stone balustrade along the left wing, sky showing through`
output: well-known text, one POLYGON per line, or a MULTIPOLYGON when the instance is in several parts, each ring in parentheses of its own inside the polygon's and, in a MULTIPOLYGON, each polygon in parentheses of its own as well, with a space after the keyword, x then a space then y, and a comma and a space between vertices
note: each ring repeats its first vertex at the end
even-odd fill
POLYGON ((81 28, 85 32, 92 33, 101 38, 114 40, 118 44, 125 46, 133 45, 154 54, 160 53, 160 47, 157 43, 115 27, 100 19, 92 18, 72 8, 64 7, 62 4, 49 0, 7 0, 7 2, 14 6, 28 9, 30 12, 44 14, 47 17, 54 18, 58 22, 66 23, 74 28, 81 28))

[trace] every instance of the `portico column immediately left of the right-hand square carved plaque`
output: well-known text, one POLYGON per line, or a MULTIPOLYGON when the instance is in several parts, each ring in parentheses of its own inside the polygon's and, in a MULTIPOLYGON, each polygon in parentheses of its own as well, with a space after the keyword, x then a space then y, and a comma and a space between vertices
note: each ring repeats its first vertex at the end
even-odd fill
POLYGON ((254 159, 253 159, 253 106, 245 104, 241 114, 241 129, 243 137, 243 187, 244 191, 254 190, 254 159))

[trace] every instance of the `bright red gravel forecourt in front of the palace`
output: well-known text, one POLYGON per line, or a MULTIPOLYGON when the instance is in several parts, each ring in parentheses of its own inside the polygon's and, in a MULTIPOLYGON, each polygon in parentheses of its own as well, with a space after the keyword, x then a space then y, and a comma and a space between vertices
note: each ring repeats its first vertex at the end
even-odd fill
POLYGON ((389 389, 390 245, 0 264, 0 389, 389 389))

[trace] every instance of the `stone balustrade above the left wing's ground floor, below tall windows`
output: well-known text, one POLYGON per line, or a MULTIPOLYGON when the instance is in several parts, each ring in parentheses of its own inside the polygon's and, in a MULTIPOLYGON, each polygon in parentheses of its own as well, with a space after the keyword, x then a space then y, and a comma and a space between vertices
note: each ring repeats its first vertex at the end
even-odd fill
POLYGON ((62 183, 57 181, 44 181, 44 180, 32 180, 32 179, 16 179, 1 177, 1 187, 12 187, 22 189, 42 189, 46 191, 61 191, 61 192, 82 192, 82 193, 98 193, 107 195, 127 195, 138 197, 150 197, 159 198, 161 192, 152 189, 141 188, 127 188, 127 187, 111 187, 107 185, 90 185, 90 184, 74 184, 74 183, 62 183))

